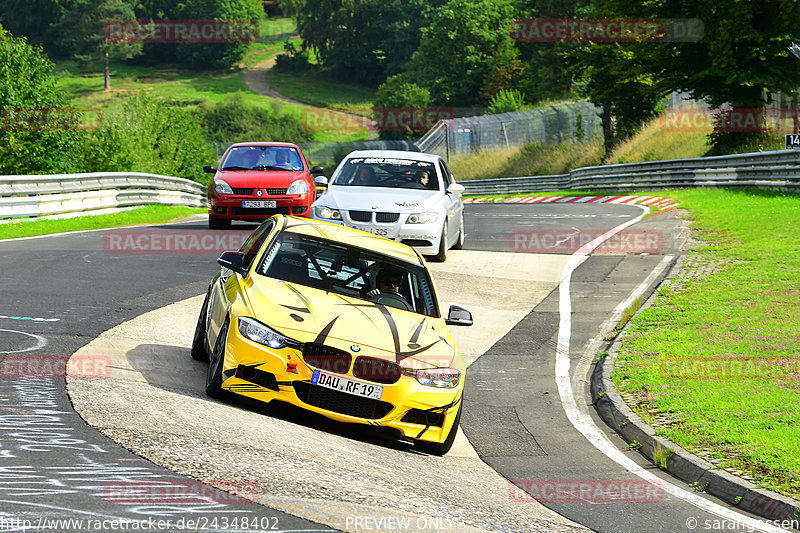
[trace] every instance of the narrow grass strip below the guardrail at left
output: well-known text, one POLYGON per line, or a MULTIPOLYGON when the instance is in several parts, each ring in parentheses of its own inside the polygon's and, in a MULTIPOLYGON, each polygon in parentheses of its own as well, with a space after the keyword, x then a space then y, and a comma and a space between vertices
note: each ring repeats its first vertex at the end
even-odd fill
POLYGON ((33 237, 36 235, 50 235, 68 231, 160 224, 205 212, 206 209, 200 208, 150 205, 108 215, 82 216, 54 220, 17 219, 12 222, 0 224, 0 240, 33 237))

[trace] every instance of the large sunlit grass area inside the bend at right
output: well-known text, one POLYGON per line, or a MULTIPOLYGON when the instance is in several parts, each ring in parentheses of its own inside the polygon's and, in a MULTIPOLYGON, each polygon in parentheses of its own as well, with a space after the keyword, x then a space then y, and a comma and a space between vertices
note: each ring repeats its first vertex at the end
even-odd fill
POLYGON ((645 420, 668 417, 659 435, 798 498, 800 196, 653 194, 689 209, 706 243, 697 253, 720 270, 659 291, 633 319, 614 381, 645 420))

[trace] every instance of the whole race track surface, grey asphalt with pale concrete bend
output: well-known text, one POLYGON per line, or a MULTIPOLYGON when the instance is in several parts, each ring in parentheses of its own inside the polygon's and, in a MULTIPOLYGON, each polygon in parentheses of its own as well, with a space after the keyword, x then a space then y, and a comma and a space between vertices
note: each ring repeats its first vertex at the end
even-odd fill
POLYGON ((434 265, 443 299, 476 317, 472 328, 452 328, 471 366, 466 439, 445 458, 302 413, 204 397, 203 365, 186 348, 196 297, 219 247, 238 247, 241 232, 195 220, 0 241, 0 531, 122 530, 114 520, 172 531, 752 530, 719 502, 687 501, 680 491, 691 489, 629 451, 587 400, 592 342, 620 302, 652 291, 679 260, 680 221, 675 212, 647 218, 627 230, 638 240, 570 259, 584 236, 641 214, 625 205, 467 207, 465 250, 434 265), (126 247, 140 232, 160 237, 126 247), (177 253, 154 245, 164 235, 207 240, 177 253), (112 330, 150 311, 130 323, 135 331, 112 330), (95 370, 112 364, 70 381, 71 401, 63 369, 80 349, 95 370), (597 427, 602 438, 592 437, 597 427), (600 451, 612 445, 664 484, 653 489, 600 451), (570 484, 586 490, 565 495, 570 484), (630 492, 604 499, 611 484, 630 492))

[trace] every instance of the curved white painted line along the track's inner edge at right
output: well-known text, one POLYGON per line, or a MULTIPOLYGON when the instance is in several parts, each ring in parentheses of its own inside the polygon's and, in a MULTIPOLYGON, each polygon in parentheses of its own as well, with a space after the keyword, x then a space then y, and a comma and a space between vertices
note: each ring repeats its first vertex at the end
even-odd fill
MULTIPOLYGON (((697 507, 698 509, 702 509, 703 511, 706 511, 708 513, 717 515, 726 520, 730 520, 731 522, 734 522, 737 525, 746 527, 749 531, 766 531, 766 532, 783 531, 782 529, 771 526, 764 521, 750 518, 743 514, 737 513, 736 511, 723 507, 722 505, 708 501, 705 498, 698 496, 697 494, 684 490, 678 487, 677 485, 673 485, 672 483, 668 483, 663 479, 661 479, 660 477, 645 470, 644 468, 639 466, 636 462, 634 462, 632 459, 627 457, 616 446, 614 446, 614 444, 606 437, 605 433, 603 433, 603 431, 599 427, 597 427, 597 425, 594 423, 591 417, 588 416, 588 413, 583 412, 578 407, 576 395, 572 388, 572 382, 570 380, 570 359, 569 359, 570 337, 572 331, 572 303, 570 300, 570 280, 572 278, 572 273, 575 271, 575 269, 578 267, 581 261, 592 251, 594 251, 598 246, 600 246, 603 242, 610 239, 611 237, 613 237, 620 231, 624 230, 628 226, 631 226, 639 222, 644 217, 644 214, 649 212, 649 208, 647 207, 644 206, 638 206, 638 207, 641 207, 642 210, 644 211, 641 215, 639 215, 633 220, 630 220, 624 224, 621 224, 607 231, 603 235, 597 237, 592 242, 588 243, 586 246, 582 247, 577 252, 572 254, 569 261, 564 266, 564 270, 561 274, 561 283, 559 284, 560 320, 558 326, 558 344, 556 347, 556 385, 558 386, 558 394, 561 397, 561 404, 564 407, 564 411, 567 414, 567 418, 569 418, 569 421, 572 423, 575 429, 577 429, 586 438, 586 440, 588 440, 595 448, 597 448, 600 452, 605 454, 606 457, 608 457, 615 463, 619 464, 632 474, 635 474, 646 481, 650 481, 651 483, 660 485, 661 487, 663 487, 664 492, 671 494, 672 496, 679 498, 697 507)), ((662 262, 661 265, 663 264, 664 263, 662 262)), ((648 279, 651 280, 649 276, 648 279)), ((647 280, 645 280, 645 282, 647 282, 647 280)), ((641 291, 644 290, 644 288, 642 288, 641 285, 637 287, 636 290, 634 290, 634 293, 640 290, 641 291)), ((627 305, 625 305, 626 302, 628 302, 629 300, 632 301, 634 297, 629 297, 628 299, 625 300, 625 302, 622 302, 619 306, 617 306, 615 312, 620 309, 624 310, 627 307, 627 305)), ((608 320, 606 321, 606 323, 608 323, 608 320)), ((584 354, 584 357, 585 356, 586 354, 584 354)))

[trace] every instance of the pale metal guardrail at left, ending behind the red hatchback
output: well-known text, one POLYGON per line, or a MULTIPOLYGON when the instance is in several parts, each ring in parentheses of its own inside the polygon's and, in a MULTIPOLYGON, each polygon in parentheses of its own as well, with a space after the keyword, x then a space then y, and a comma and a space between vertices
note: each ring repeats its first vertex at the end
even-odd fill
POLYGON ((205 190, 184 178, 140 172, 0 176, 0 219, 150 204, 203 207, 205 190))

